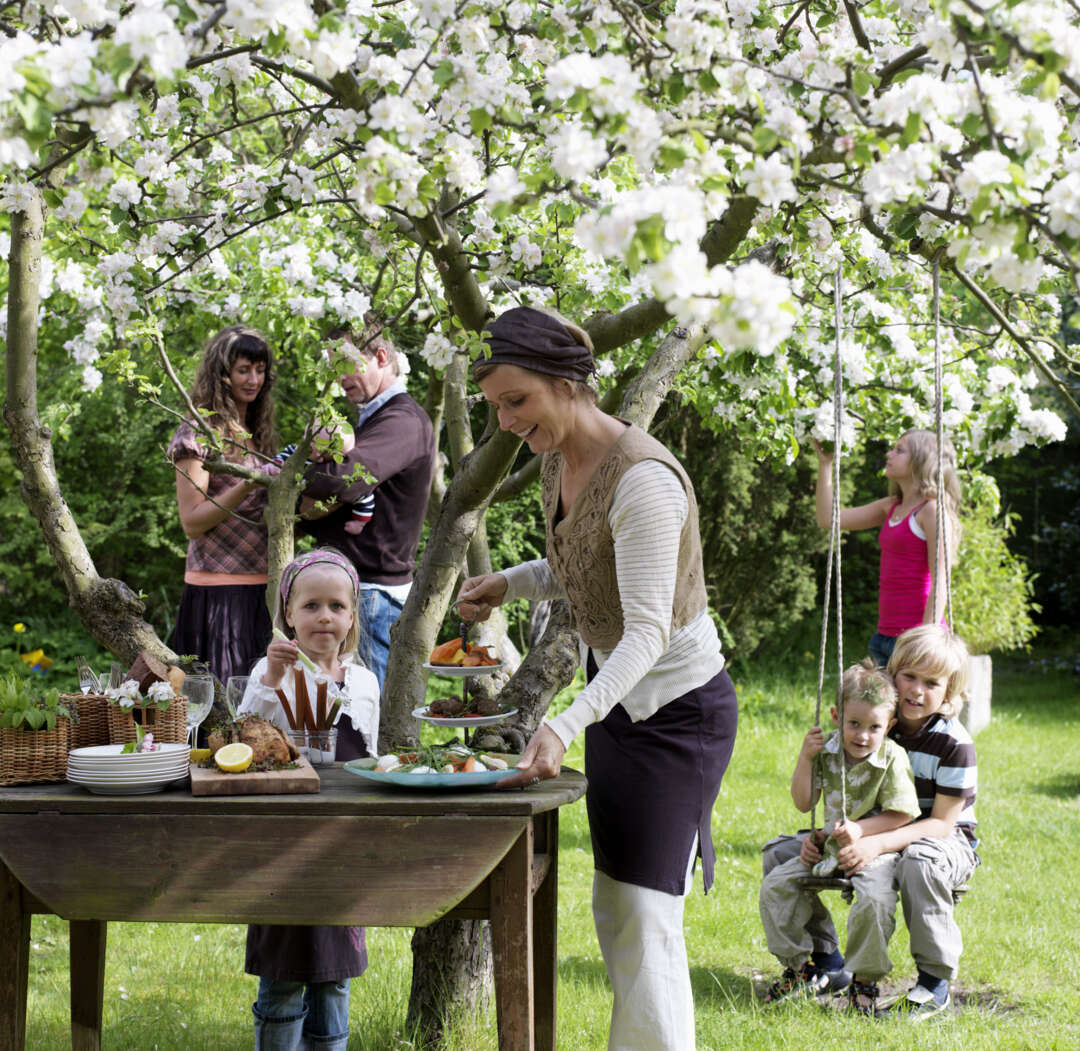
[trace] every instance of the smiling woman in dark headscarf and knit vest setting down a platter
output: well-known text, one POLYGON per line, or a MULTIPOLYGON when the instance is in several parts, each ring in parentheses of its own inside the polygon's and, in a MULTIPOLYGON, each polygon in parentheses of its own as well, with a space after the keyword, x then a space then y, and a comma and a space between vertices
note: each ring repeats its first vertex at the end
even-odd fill
POLYGON ((543 456, 546 557, 465 580, 459 608, 485 619, 513 598, 565 596, 589 679, 501 784, 556 777, 584 731, 593 918, 615 994, 608 1047, 692 1051, 684 901, 699 857, 712 885, 710 821, 738 722, 693 486, 663 445, 598 407, 583 329, 518 307, 488 337, 474 376, 499 426, 543 456))

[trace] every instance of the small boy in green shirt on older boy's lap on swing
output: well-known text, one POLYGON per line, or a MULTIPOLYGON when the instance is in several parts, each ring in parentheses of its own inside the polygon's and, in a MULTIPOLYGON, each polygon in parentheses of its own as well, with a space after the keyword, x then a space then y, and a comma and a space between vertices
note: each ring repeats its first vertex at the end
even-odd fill
MULTIPOLYGON (((899 828, 919 816, 907 753, 886 737, 895 723, 896 689, 892 679, 866 660, 843 673, 841 697, 842 726, 834 708, 833 722, 839 729, 827 741, 821 727, 811 727, 792 774, 792 799, 799 810, 809 811, 818 796, 823 797, 822 828, 808 838, 818 847, 824 844, 825 867, 829 868, 835 867, 832 863, 840 848, 852 846, 864 835, 899 828), (841 808, 841 779, 846 814, 841 808)), ((854 902, 848 913, 847 962, 855 974, 850 1002, 858 1010, 863 1010, 867 991, 892 970, 889 939, 895 927, 893 867, 883 861, 875 862, 851 877, 854 902)), ((815 870, 821 874, 819 866, 815 870)), ((761 882, 759 904, 766 940, 769 952, 784 966, 784 974, 766 994, 766 1002, 813 996, 829 983, 828 974, 809 962, 812 943, 807 926, 815 905, 820 907, 816 893, 798 882, 809 872, 802 857, 793 858, 769 872, 761 882)), ((869 999, 873 1010, 873 997, 869 999)))

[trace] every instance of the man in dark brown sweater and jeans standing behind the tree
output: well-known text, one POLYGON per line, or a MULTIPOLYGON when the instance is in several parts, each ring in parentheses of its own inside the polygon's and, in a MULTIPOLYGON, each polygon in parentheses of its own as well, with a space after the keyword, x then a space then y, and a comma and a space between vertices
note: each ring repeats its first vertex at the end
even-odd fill
MULTIPOLYGON (((343 340, 355 363, 341 376, 346 398, 360 406, 355 444, 341 463, 315 463, 308 474, 301 513, 315 501, 337 504, 302 528, 321 545, 348 555, 360 575, 360 659, 379 686, 387 674, 390 629, 413 583, 416 549, 428 509, 435 469, 435 442, 428 414, 405 391, 397 351, 370 318, 362 333, 332 329, 328 340, 343 340), (351 506, 375 495, 372 521, 360 533, 346 530, 351 506)), ((315 512, 318 514, 318 511, 315 512)))

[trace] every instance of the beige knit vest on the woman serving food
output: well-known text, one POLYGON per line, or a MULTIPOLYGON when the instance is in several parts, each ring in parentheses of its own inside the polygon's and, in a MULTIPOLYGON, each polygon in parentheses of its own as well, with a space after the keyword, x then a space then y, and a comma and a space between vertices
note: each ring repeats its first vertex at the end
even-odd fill
POLYGON ((594 649, 615 649, 622 638, 622 606, 608 512, 619 480, 642 460, 666 464, 678 475, 686 491, 687 516, 679 537, 672 631, 688 624, 705 608, 698 501, 683 466, 663 445, 640 428, 629 427, 593 471, 569 513, 557 524, 563 456, 548 453, 541 468, 548 564, 566 592, 575 626, 585 645, 594 649))

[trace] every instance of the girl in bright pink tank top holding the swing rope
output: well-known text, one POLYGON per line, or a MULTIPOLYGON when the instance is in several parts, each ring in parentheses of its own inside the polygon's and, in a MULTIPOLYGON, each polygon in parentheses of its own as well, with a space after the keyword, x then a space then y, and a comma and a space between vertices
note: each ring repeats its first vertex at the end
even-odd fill
MULTIPOLYGON (((818 450, 818 525, 829 527, 833 513, 833 456, 815 440, 818 450)), ((840 510, 841 529, 879 529, 881 564, 877 631, 869 653, 882 668, 899 635, 928 624, 945 611, 946 566, 956 565, 960 537, 960 482, 956 454, 945 439, 942 474, 945 493, 945 543, 937 550, 937 436, 908 431, 886 454, 889 495, 858 508, 840 510)))

